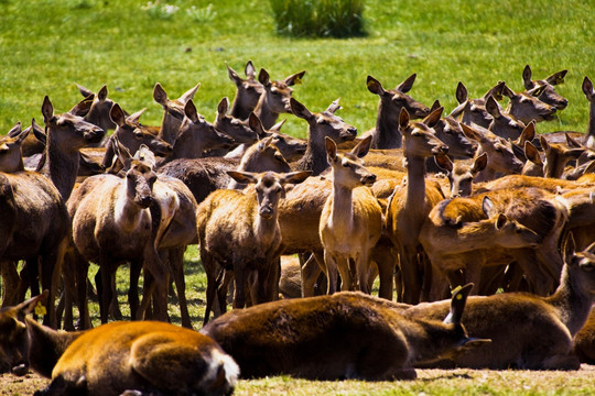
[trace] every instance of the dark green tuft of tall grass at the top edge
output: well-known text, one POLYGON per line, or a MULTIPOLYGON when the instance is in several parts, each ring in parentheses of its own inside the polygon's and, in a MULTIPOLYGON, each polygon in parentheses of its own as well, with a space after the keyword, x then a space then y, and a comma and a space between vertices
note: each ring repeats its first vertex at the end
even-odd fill
POLYGON ((277 33, 293 37, 366 35, 364 0, 271 0, 277 33))

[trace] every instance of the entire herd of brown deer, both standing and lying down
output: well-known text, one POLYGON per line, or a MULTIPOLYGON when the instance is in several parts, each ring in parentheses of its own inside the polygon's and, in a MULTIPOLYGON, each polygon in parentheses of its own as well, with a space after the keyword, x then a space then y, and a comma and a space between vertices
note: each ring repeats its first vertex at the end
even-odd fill
POLYGON ((227 69, 237 94, 213 122, 193 102, 199 84, 177 99, 155 84, 160 127, 105 86, 78 86, 71 111, 45 97, 45 128, 17 123, 0 139, 0 373, 52 378, 39 395, 227 395, 240 375, 376 381, 595 362, 588 77, 587 133, 537 134, 567 106, 555 90, 566 70, 536 80, 526 66, 522 91, 498 81, 478 99, 459 82, 448 114, 408 95, 415 74, 394 89, 368 76, 378 118, 357 136, 338 99, 315 112, 293 98, 305 72, 227 69), (307 139, 282 133, 281 114, 303 119, 307 139), (184 279, 196 243, 201 332, 184 279), (127 263, 133 321, 108 323, 121 319, 127 263), (173 285, 182 328, 167 323, 173 285))

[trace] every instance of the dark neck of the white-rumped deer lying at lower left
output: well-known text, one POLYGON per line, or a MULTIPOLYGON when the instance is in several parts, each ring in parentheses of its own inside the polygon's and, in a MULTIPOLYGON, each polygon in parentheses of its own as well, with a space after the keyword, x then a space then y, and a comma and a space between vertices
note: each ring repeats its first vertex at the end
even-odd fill
POLYGON ((52 370, 66 348, 84 331, 56 331, 26 318, 29 333, 29 364, 33 371, 51 378, 52 370))

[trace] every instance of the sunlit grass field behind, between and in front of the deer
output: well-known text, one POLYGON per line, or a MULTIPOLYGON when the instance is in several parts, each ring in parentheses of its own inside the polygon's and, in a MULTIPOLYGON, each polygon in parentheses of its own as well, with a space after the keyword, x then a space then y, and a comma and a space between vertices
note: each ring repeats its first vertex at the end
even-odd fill
MULTIPOLYGON (((569 107, 556 120, 540 123, 538 131, 586 130, 581 84, 584 76, 595 78, 593 1, 368 0, 369 34, 346 40, 275 36, 268 1, 166 2, 177 11, 151 12, 147 1, 0 0, 0 134, 17 121, 42 122, 45 95, 57 112, 67 111, 79 100, 75 82, 93 90, 106 84, 110 97, 127 111, 147 108, 142 119, 147 124, 158 124, 162 117, 152 99, 155 82, 171 98, 202 82, 195 102, 213 120, 220 98, 235 92, 226 63, 242 72, 248 59, 257 69, 267 68, 273 79, 305 69, 294 97, 313 111, 340 97, 340 116, 360 131, 376 122, 378 99, 366 89, 367 75, 392 88, 416 73, 411 95, 429 106, 440 99, 451 111, 458 81, 470 97, 479 97, 500 79, 521 90, 527 64, 538 78, 569 69, 565 84, 558 88, 569 107)), ((305 136, 305 123, 288 119, 285 132, 305 136)), ((195 246, 188 249, 186 264, 191 318, 199 328, 206 279, 195 246)), ((121 302, 127 278, 122 268, 121 302)), ((126 304, 122 309, 126 316, 126 304)), ((97 306, 91 310, 97 323, 97 306)), ((175 307, 170 315, 180 322, 175 307)), ((576 373, 420 371, 420 380, 407 383, 273 377, 241 382, 237 394, 586 395, 595 392, 594 373, 591 366, 576 373)), ((0 377, 0 395, 31 394, 43 384, 34 376, 21 380, 0 377)))

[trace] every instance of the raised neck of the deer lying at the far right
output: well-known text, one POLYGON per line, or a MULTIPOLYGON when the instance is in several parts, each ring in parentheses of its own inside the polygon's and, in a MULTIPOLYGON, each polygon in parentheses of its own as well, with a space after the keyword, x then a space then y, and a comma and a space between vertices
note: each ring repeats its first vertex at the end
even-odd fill
POLYGON ((560 286, 552 296, 545 298, 545 301, 558 310, 560 320, 572 337, 585 324, 593 306, 589 292, 581 288, 580 279, 573 276, 566 264, 562 268, 560 286))

